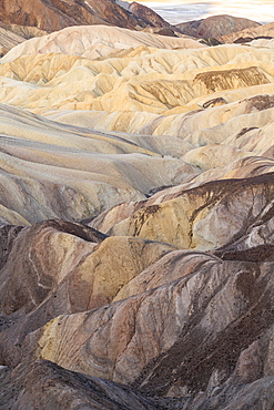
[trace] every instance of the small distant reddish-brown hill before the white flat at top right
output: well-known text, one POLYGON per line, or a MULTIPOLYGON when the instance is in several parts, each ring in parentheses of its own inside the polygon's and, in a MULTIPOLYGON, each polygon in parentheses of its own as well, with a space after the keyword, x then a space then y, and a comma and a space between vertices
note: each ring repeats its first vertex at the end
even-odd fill
POLYGON ((260 23, 248 19, 222 14, 180 23, 176 24, 176 28, 186 35, 202 39, 219 39, 244 29, 250 29, 251 31, 260 25, 260 23))

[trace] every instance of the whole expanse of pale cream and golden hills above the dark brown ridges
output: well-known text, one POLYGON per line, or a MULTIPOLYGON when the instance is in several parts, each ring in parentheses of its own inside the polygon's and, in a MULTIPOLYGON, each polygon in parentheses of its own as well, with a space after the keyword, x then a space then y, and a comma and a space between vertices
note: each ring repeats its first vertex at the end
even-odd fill
POLYGON ((273 158, 272 61, 271 49, 103 27, 12 49, 0 65, 2 221, 92 218, 164 186, 257 174, 261 160, 239 161, 273 158), (88 57, 101 45, 104 58, 88 57))

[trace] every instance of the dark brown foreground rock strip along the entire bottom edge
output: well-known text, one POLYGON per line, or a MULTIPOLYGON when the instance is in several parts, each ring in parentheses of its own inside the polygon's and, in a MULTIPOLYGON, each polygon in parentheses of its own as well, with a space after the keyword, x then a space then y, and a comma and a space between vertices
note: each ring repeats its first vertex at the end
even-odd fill
POLYGON ((236 408, 272 410, 274 378, 252 383, 216 388, 211 394, 200 392, 182 398, 144 397, 138 390, 109 380, 65 370, 37 360, 16 368, 0 369, 0 409, 34 410, 227 410, 236 408))

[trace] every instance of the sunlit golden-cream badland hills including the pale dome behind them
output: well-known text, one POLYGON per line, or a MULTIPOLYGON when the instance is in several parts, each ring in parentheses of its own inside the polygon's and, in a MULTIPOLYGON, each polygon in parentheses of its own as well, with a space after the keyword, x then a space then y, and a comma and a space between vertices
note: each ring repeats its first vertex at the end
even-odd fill
MULTIPOLYGON (((239 101, 256 94, 256 86, 271 93, 272 54, 119 28, 69 28, 29 40, 1 59, 1 101, 43 115, 50 109, 179 114, 199 109, 205 98, 239 101)), ((116 131, 126 131, 119 123, 116 131)))

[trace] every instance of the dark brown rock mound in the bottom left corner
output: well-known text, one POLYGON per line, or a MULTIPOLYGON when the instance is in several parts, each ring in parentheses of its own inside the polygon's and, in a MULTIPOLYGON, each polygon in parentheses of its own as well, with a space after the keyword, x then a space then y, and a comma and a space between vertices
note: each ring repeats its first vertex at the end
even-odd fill
POLYGON ((68 371, 45 360, 0 369, 0 398, 2 409, 159 409, 133 389, 68 371))

